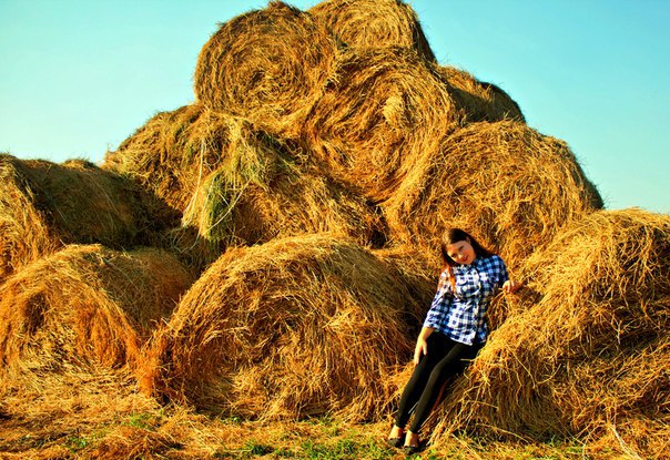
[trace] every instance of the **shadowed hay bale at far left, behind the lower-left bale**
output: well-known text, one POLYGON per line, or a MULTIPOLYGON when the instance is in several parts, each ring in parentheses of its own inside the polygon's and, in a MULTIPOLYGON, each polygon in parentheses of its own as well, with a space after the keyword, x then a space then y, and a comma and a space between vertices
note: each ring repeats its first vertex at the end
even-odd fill
POLYGON ((63 244, 132 247, 170 225, 155 198, 91 163, 0 154, 0 279, 63 244))

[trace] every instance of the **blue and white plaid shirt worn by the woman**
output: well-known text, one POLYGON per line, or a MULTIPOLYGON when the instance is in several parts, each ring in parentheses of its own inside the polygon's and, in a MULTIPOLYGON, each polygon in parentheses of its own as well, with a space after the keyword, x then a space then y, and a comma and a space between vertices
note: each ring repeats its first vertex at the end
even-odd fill
POLYGON ((488 304, 496 290, 509 279, 505 263, 497 255, 477 257, 469 265, 455 266, 454 277, 456 294, 448 279, 448 270, 441 273, 424 327, 436 329, 461 344, 483 344, 488 336, 488 304))

